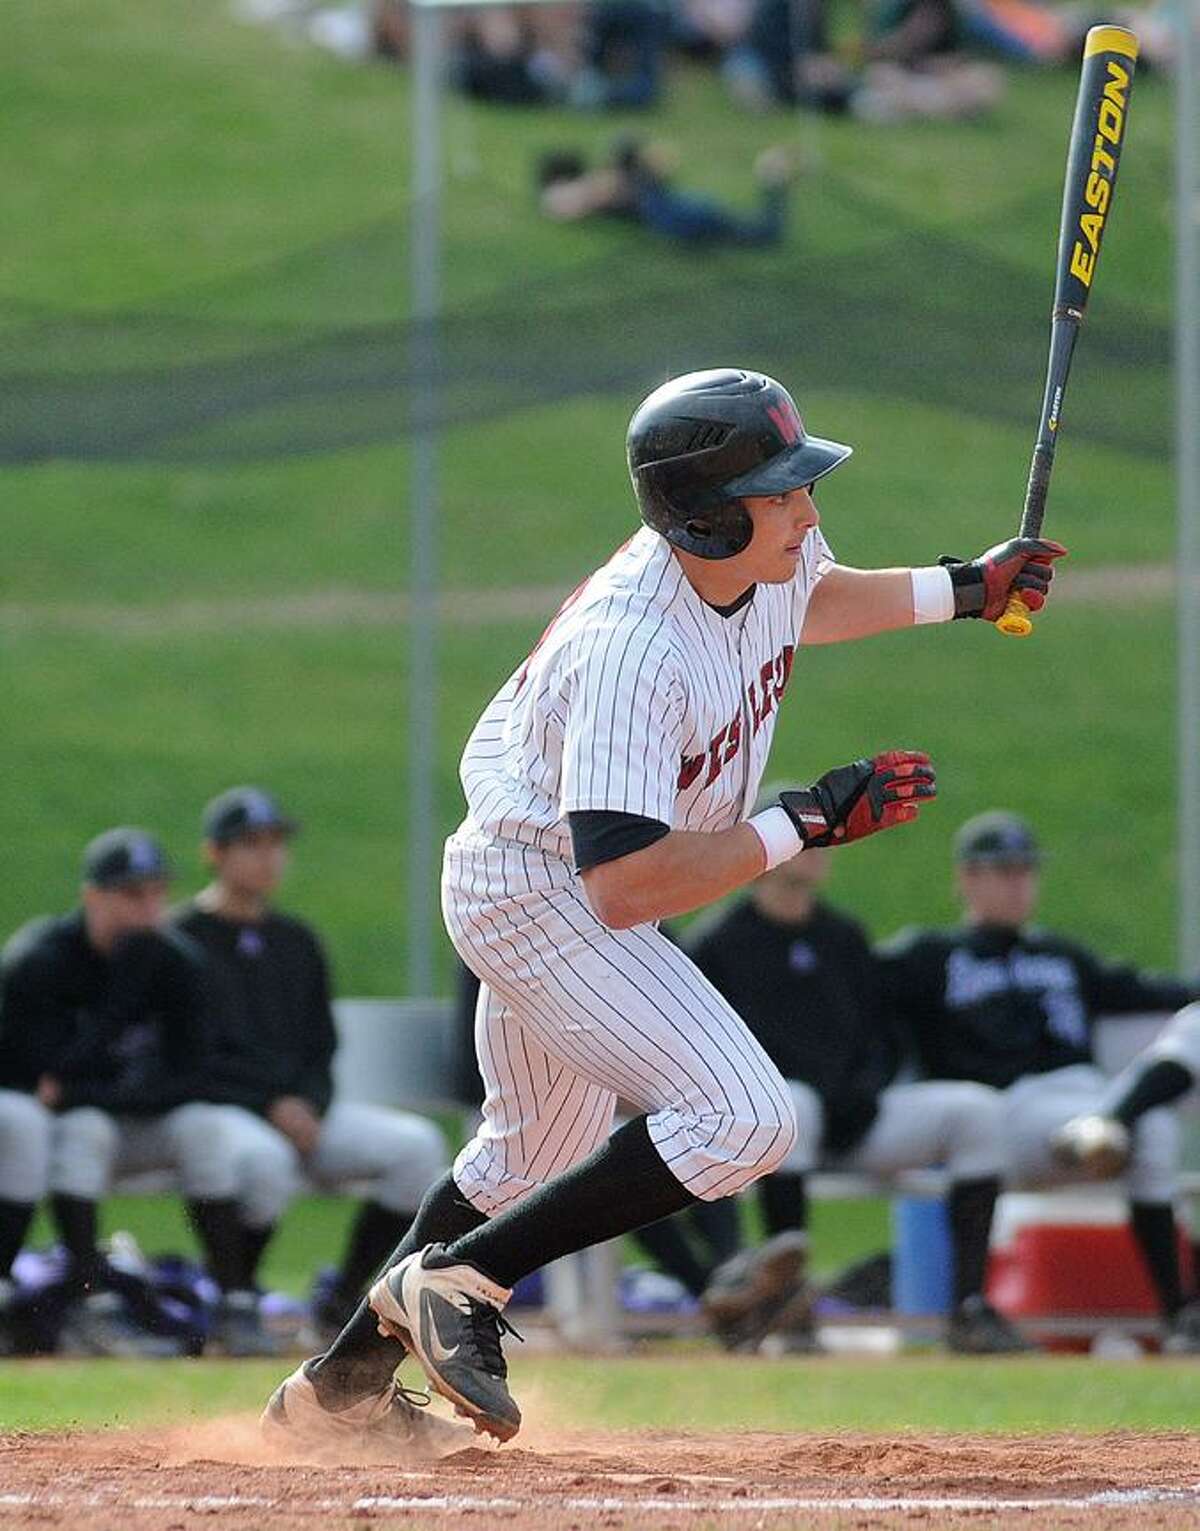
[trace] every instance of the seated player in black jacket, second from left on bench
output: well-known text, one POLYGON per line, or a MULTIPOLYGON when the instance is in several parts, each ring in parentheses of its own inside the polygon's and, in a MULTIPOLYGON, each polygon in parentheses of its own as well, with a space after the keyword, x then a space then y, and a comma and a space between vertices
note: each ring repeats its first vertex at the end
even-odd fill
POLYGON ((256 787, 214 798, 204 813, 214 877, 173 925, 205 958, 213 1035, 205 1096, 225 1102, 227 1130, 259 1164, 245 1214, 251 1275, 302 1170, 329 1190, 370 1183, 337 1286, 315 1314, 321 1332, 337 1334, 447 1154, 441 1131, 421 1116, 334 1099, 337 1032, 324 954, 308 925, 271 903, 297 828, 256 787))

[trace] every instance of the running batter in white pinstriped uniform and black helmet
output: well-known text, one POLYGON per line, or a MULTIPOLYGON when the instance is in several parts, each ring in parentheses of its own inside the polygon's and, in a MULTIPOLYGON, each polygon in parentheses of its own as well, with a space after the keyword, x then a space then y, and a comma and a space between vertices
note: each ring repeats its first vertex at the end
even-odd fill
POLYGON ((733 1196, 791 1153, 785 1081, 657 923, 934 796, 928 758, 889 750, 747 818, 801 643, 996 615, 1013 588, 1041 606, 1064 551, 1013 540, 949 568, 837 565, 811 491, 849 452, 735 367, 675 378, 634 413, 644 528, 566 600, 462 755, 442 909, 482 980, 484 1122, 369 1309, 276 1392, 274 1433, 413 1415, 390 1392, 407 1346, 476 1428, 508 1439, 514 1281, 733 1196), (611 1133, 618 1098, 640 1115, 611 1133))

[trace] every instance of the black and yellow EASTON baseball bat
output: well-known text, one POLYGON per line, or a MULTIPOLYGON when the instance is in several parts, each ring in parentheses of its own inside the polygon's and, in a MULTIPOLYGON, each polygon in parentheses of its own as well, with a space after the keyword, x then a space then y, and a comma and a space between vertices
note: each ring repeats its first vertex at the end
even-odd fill
MULTIPOLYGON (((1084 67, 1074 103, 1067 178, 1062 185, 1062 219, 1058 233, 1055 306, 1050 315, 1050 361, 1038 439, 1029 468, 1021 536, 1038 537, 1045 516, 1045 495, 1055 465, 1062 395, 1071 371, 1074 341, 1084 323, 1087 300, 1101 256, 1101 240, 1113 210, 1113 191, 1125 142, 1130 90, 1137 64, 1137 38, 1123 26, 1093 26, 1084 41, 1084 67)), ((1033 631, 1029 608, 1018 594, 996 626, 1013 638, 1033 631)))

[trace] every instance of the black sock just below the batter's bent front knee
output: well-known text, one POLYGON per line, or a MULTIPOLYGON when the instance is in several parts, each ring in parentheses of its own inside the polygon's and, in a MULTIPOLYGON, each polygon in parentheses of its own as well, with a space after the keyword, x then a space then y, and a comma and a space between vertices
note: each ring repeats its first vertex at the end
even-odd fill
POLYGON ((582 1164, 455 1240, 447 1252, 501 1286, 514 1286, 551 1260, 657 1223, 695 1200, 663 1164, 646 1118, 637 1116, 582 1164))

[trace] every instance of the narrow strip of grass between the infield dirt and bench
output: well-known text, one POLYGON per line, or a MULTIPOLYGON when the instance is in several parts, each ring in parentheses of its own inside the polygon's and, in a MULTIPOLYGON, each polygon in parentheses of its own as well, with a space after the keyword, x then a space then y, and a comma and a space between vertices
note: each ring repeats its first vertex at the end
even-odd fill
MULTIPOLYGON (((520 1347, 510 1341, 510 1350, 520 1347)), ((182 1424, 262 1409, 288 1363, 5 1366, 6 1430, 182 1424)), ((1191 1430, 1189 1363, 911 1356, 759 1361, 649 1346, 637 1356, 516 1355, 530 1433, 546 1428, 993 1431, 1191 1430)))

